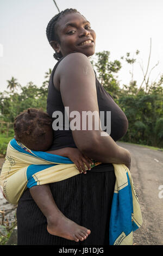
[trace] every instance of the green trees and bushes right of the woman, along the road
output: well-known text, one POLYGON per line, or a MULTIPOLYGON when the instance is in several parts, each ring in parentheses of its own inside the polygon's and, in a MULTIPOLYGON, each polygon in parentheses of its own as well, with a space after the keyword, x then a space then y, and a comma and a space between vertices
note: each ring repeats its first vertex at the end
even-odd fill
MULTIPOLYGON (((139 51, 135 52, 134 58, 130 58, 130 53, 121 57, 121 60, 131 65, 137 61, 139 51)), ((151 52, 149 53, 150 59, 151 52)), ((148 71, 149 60, 146 72, 143 71, 143 81, 140 86, 133 80, 128 85, 120 87, 117 73, 122 68, 119 60, 110 61, 110 52, 103 51, 95 54, 95 59, 91 62, 95 67, 98 79, 105 90, 114 97, 115 102, 126 114, 129 127, 125 136, 121 139, 124 142, 149 145, 156 148, 163 147, 163 74, 158 82, 150 82, 149 75, 155 68, 148 71), (148 75, 147 75, 148 74, 148 75)))

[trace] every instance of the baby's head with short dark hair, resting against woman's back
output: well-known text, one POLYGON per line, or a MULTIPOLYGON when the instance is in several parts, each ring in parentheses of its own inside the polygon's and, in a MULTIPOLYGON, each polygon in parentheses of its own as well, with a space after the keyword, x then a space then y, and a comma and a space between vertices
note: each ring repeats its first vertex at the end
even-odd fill
POLYGON ((28 108, 14 119, 15 139, 28 149, 46 151, 53 142, 52 118, 42 109, 28 108))

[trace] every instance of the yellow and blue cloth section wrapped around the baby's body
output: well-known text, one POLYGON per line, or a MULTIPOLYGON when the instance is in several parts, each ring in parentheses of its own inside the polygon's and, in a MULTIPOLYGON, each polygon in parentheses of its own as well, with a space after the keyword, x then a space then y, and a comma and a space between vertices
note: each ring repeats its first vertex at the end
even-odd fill
MULTIPOLYGON (((91 168, 100 164, 93 162, 91 168)), ((85 165, 87 170, 87 166, 85 165)), ((4 197, 11 204, 17 204, 26 188, 49 184, 80 174, 67 157, 53 155, 26 148, 12 139, 2 167, 0 185, 4 197)))

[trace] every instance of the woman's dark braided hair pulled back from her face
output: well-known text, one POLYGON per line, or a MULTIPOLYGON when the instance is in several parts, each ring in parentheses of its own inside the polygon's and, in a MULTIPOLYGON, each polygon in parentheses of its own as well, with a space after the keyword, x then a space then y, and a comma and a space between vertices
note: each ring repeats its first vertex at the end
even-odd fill
MULTIPOLYGON (((51 44, 51 41, 57 41, 60 44, 59 36, 57 35, 57 29, 56 24, 61 19, 62 16, 70 13, 79 13, 76 9, 65 9, 64 11, 61 11, 59 14, 55 15, 48 23, 46 28, 46 35, 49 43, 51 44)), ((54 58, 59 60, 62 57, 61 52, 54 53, 54 58)))

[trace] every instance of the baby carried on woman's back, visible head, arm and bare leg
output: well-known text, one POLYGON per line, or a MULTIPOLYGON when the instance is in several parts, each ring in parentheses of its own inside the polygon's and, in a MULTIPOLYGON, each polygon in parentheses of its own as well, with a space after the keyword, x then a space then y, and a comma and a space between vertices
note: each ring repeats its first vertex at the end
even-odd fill
MULTIPOLYGON (((79 172, 86 174, 92 160, 84 156, 77 148, 62 148, 48 151, 53 142, 52 118, 41 109, 28 108, 14 120, 15 139, 30 150, 68 157, 76 164, 79 172)), ((82 174, 83 175, 83 174, 82 174)), ((33 186, 30 189, 35 203, 47 218, 47 230, 52 235, 64 237, 76 242, 83 241, 91 233, 85 227, 69 220, 62 214, 54 202, 49 185, 33 186)))

